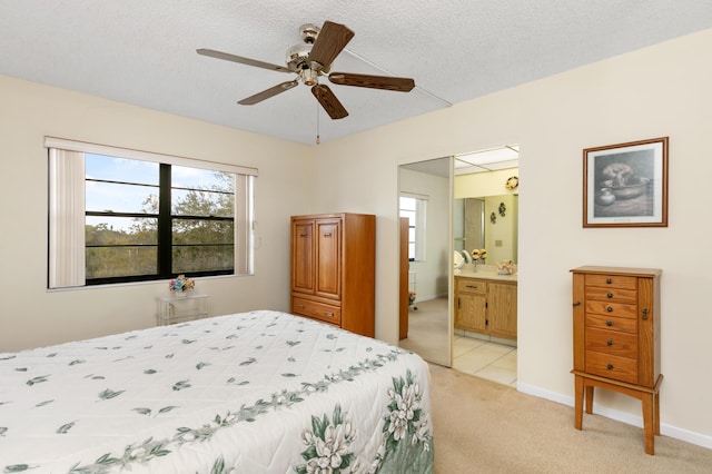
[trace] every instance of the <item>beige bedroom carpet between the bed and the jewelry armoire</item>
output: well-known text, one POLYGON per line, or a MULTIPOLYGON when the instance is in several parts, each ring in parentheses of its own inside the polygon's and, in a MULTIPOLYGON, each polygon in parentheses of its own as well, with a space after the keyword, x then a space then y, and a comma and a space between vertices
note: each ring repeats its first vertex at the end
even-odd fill
POLYGON ((642 428, 584 414, 577 431, 570 406, 434 364, 431 376, 436 474, 712 473, 712 450, 655 436, 651 456, 642 428))

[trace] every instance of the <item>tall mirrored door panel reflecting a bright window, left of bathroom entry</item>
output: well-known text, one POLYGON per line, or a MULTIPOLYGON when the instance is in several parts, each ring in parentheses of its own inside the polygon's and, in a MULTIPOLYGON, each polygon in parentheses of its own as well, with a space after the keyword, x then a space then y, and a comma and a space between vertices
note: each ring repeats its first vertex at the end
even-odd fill
POLYGON ((402 165, 400 347, 451 366, 452 157, 402 165), (404 292, 407 292, 404 293, 404 292))

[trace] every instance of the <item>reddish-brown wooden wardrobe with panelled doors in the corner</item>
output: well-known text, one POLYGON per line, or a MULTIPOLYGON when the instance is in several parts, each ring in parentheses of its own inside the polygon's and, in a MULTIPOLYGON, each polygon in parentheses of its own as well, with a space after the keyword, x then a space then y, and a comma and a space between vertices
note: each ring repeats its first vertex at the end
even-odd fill
POLYGON ((291 304, 295 315, 374 337, 376 216, 291 217, 291 304))

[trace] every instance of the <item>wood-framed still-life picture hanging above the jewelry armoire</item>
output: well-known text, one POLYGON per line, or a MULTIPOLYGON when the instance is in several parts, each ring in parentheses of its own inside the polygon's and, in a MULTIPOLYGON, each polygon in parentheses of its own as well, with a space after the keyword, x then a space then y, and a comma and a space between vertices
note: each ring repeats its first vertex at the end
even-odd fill
POLYGON ((583 150, 584 227, 668 227, 668 137, 583 150))

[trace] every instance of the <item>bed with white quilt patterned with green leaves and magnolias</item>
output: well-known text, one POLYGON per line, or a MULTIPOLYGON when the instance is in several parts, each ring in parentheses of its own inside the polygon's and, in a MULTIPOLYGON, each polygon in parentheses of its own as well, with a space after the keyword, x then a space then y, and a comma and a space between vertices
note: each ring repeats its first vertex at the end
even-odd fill
POLYGON ((0 354, 0 470, 433 472, 427 364, 257 310, 0 354))

